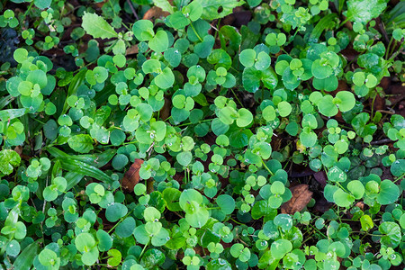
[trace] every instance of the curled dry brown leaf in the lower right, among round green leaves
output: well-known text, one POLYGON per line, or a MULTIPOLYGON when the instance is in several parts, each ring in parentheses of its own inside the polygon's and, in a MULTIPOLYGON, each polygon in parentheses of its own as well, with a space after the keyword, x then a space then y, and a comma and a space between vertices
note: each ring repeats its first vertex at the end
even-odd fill
POLYGON ((302 211, 308 202, 311 201, 312 192, 308 184, 298 184, 290 188, 293 197, 290 201, 281 206, 282 213, 293 214, 296 211, 302 211))

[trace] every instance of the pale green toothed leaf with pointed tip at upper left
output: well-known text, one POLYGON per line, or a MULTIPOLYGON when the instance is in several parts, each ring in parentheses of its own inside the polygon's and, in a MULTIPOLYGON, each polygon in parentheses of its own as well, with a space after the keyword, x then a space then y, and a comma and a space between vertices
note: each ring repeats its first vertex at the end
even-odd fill
POLYGON ((82 27, 92 35, 94 39, 111 39, 118 37, 118 33, 107 23, 103 17, 97 14, 86 13, 82 17, 82 27))

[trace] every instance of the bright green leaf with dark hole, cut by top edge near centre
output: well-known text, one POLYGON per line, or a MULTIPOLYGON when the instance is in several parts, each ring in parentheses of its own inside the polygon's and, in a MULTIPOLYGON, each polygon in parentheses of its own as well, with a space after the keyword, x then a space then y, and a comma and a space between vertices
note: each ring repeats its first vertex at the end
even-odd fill
POLYGON ((245 4, 243 0, 195 0, 202 5, 202 19, 212 21, 232 13, 232 10, 245 4))

